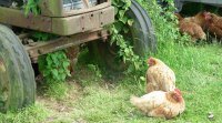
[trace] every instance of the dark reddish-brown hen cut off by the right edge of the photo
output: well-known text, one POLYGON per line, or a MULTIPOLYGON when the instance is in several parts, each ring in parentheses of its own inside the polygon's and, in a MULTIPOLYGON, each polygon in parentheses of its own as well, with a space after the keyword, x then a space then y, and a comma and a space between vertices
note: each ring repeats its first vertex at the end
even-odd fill
POLYGON ((219 17, 214 13, 210 13, 211 19, 208 23, 208 30, 211 34, 215 35, 216 38, 222 38, 222 17, 219 17))

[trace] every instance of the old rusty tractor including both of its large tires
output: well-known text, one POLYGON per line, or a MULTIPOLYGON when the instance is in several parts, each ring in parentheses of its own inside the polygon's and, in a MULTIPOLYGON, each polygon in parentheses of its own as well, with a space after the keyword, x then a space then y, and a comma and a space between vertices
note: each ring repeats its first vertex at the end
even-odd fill
MULTIPOLYGON (((78 49, 80 44, 90 41, 97 43, 100 52, 104 52, 109 40, 104 42, 101 39, 109 39, 109 31, 103 27, 114 22, 111 0, 39 0, 41 13, 37 16, 24 14, 22 4, 27 1, 0 0, 1 112, 34 103, 36 80, 32 63, 38 61, 38 57, 67 48, 78 49), (44 42, 24 41, 32 31, 58 37, 44 42), (105 47, 101 48, 101 43, 105 47)), ((134 20, 130 28, 134 51, 143 54, 155 43, 151 21, 134 0, 128 16, 134 20)))

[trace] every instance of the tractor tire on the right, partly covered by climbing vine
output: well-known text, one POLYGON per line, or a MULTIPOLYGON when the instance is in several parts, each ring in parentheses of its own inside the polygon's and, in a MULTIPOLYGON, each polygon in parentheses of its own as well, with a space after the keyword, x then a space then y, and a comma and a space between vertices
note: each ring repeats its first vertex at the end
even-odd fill
POLYGON ((155 52, 157 39, 148 12, 135 0, 132 0, 128 16, 134 20, 130 28, 134 52, 141 57, 155 52))

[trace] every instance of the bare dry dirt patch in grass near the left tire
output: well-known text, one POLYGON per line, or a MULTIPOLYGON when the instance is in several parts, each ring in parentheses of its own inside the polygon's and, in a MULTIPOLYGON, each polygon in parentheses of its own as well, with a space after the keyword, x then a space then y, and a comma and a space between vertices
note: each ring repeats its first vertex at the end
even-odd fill
POLYGON ((82 95, 82 88, 74 80, 68 81, 68 84, 69 92, 65 99, 56 100, 42 94, 37 96, 37 102, 41 103, 49 111, 51 111, 50 116, 44 121, 44 123, 51 123, 60 119, 71 117, 75 110, 75 102, 82 95))

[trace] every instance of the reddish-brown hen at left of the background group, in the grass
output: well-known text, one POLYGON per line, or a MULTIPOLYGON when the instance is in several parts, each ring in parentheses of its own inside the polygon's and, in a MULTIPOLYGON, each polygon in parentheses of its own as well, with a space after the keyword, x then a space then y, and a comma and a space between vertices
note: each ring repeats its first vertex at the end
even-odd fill
POLYGON ((180 32, 186 32, 189 35, 191 35, 193 41, 198 39, 206 39, 203 29, 205 29, 205 22, 209 20, 208 16, 205 16, 203 12, 200 12, 196 16, 190 18, 182 18, 179 13, 175 16, 179 19, 180 32))

